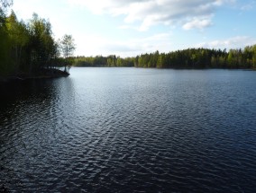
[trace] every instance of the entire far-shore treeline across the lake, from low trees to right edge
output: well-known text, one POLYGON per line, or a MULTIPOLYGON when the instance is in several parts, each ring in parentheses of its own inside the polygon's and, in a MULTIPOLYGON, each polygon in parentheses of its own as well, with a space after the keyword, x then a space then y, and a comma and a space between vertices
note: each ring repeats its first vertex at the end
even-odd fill
POLYGON ((137 57, 74 57, 74 66, 135 66, 157 68, 256 68, 256 45, 243 49, 188 48, 156 51, 137 57))

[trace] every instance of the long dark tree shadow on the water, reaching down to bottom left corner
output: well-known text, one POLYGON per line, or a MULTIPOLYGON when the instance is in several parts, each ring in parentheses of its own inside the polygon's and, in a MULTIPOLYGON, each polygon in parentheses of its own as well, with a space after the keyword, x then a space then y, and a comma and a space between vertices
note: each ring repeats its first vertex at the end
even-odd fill
POLYGON ((47 120, 50 113, 54 117, 53 109, 59 105, 60 98, 73 92, 72 88, 69 77, 0 84, 0 192, 9 192, 10 187, 23 190, 22 178, 16 172, 18 167, 6 163, 19 162, 20 154, 26 156, 23 149, 28 139, 27 129, 38 133, 38 129, 43 128, 41 123, 38 126, 26 126, 26 123, 47 120))

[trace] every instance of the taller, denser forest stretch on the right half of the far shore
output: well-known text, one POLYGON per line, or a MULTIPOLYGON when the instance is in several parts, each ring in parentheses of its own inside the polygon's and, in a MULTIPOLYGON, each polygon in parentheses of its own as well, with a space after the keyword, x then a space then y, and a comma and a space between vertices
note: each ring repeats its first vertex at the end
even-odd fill
POLYGON ((143 54, 136 67, 158 68, 255 68, 256 45, 244 49, 188 48, 169 53, 143 54))

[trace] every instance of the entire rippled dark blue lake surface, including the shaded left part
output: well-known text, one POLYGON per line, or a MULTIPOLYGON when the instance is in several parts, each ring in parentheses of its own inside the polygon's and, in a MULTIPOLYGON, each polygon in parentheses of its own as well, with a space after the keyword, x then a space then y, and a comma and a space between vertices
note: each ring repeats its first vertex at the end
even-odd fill
POLYGON ((256 72, 70 73, 1 86, 0 185, 14 192, 256 191, 256 72))

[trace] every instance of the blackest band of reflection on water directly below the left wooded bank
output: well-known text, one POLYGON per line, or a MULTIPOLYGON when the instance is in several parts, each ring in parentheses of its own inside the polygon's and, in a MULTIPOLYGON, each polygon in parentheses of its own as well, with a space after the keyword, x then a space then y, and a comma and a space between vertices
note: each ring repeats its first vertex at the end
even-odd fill
POLYGON ((11 112, 11 107, 19 107, 18 104, 27 101, 51 101, 50 99, 58 98, 59 90, 61 89, 66 89, 67 91, 72 89, 71 79, 69 77, 1 83, 0 112, 3 114, 3 112, 6 112, 5 110, 9 109, 11 109, 11 112))

